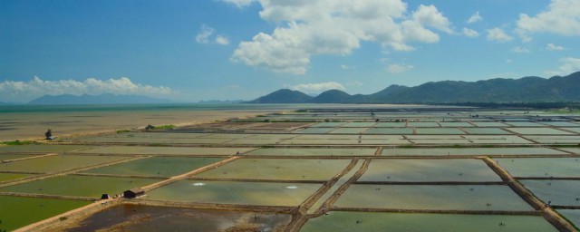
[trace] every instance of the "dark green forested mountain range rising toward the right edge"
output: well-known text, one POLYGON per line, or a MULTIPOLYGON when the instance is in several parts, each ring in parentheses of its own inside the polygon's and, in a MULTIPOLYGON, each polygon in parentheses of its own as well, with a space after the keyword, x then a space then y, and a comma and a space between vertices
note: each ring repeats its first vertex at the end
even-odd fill
POLYGON ((478 82, 426 82, 419 86, 391 85, 372 94, 351 95, 329 90, 313 97, 282 89, 248 103, 461 103, 461 102, 580 102, 580 72, 549 79, 490 79, 478 82))

